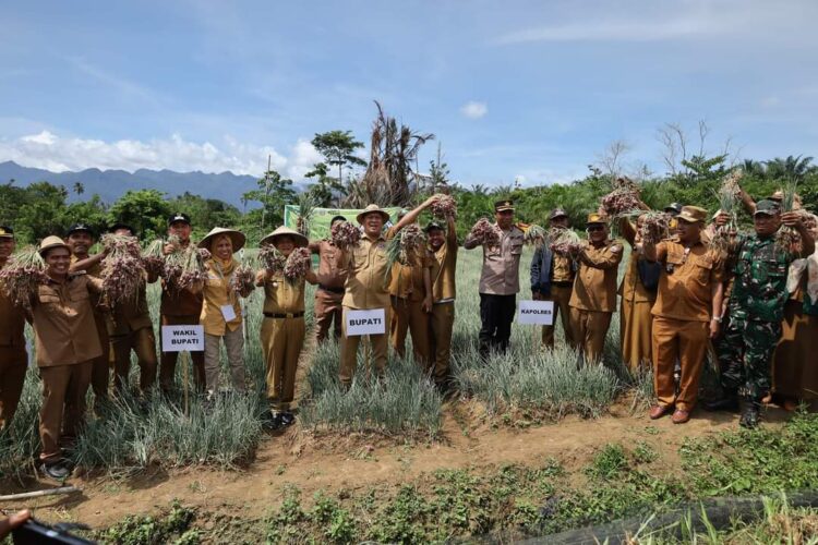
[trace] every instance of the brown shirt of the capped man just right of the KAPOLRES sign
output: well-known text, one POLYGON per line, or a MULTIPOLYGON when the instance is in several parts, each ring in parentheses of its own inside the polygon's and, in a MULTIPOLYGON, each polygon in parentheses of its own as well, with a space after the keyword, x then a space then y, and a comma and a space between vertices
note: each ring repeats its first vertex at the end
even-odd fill
POLYGON ((622 261, 622 244, 606 241, 600 247, 590 242, 579 252, 579 271, 568 304, 594 312, 616 310, 616 272, 622 261))

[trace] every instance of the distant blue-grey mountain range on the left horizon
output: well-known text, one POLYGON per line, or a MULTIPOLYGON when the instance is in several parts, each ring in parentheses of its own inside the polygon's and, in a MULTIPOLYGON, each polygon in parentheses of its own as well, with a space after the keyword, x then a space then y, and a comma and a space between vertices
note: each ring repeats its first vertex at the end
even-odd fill
MULTIPOLYGON (((14 161, 0 162, 0 183, 14 180, 20 186, 33 182, 50 182, 64 185, 70 199, 87 198, 98 194, 106 203, 113 203, 128 190, 159 190, 168 196, 181 195, 185 191, 205 198, 219 198, 242 208, 241 194, 256 187, 256 178, 237 175, 232 172, 218 174, 205 172, 175 172, 172 170, 140 169, 134 173, 124 170, 86 169, 81 172, 50 172, 48 170, 21 167, 14 161), (82 182, 85 193, 77 196, 71 190, 82 182)), ((300 189, 300 184, 294 184, 300 189)), ((257 206, 257 203, 255 203, 257 206)))

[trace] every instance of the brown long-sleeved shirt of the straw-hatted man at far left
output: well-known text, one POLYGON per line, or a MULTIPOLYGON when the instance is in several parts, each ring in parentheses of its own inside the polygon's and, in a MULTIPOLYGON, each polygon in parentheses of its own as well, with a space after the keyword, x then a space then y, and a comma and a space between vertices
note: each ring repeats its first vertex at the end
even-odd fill
POLYGON ((37 365, 73 365, 103 355, 91 307, 91 293, 101 290, 103 281, 84 272, 38 287, 32 298, 37 365))

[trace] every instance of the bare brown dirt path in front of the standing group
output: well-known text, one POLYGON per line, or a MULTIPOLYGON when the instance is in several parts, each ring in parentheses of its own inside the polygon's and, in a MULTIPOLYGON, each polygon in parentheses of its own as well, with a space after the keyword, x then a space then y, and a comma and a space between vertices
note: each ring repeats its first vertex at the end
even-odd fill
MULTIPOLYGON (((166 508, 175 498, 210 511, 260 517, 280 502, 288 485, 297 485, 309 500, 320 489, 362 493, 375 485, 398 485, 437 469, 489 471, 509 463, 541 464, 550 457, 558 459, 566 469, 574 469, 612 441, 626 446, 646 441, 660 453, 655 468, 673 471, 685 437, 737 425, 734 415, 700 412, 688 424, 674 426, 669 419, 651 422, 643 413, 630 414, 617 405, 611 415, 597 420, 568 417, 526 429, 493 428, 471 409, 467 403, 447 405, 443 432, 435 441, 400 444, 354 435, 316 437, 292 428, 265 439, 255 460, 243 471, 155 469, 121 480, 79 477, 71 484, 80 486, 82 495, 0 507, 31 507, 40 510, 47 520, 80 520, 96 528, 128 514, 166 508)), ((780 411, 770 411, 768 422, 781 420, 780 411)), ((41 482, 26 488, 50 486, 41 482)))

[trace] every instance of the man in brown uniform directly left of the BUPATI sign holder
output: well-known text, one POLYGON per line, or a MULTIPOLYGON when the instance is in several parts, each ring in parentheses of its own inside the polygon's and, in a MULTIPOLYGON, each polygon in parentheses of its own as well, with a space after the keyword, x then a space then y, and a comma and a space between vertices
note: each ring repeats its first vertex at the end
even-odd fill
MULTIPOLYGON (((344 216, 335 216, 329 228, 346 221, 344 216)), ((341 261, 340 249, 329 239, 310 243, 310 251, 318 255, 318 289, 315 290, 315 340, 318 342, 329 335, 333 327, 335 339, 340 338, 344 300, 344 283, 347 281, 347 269, 341 261)))

